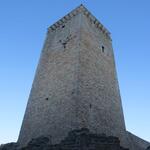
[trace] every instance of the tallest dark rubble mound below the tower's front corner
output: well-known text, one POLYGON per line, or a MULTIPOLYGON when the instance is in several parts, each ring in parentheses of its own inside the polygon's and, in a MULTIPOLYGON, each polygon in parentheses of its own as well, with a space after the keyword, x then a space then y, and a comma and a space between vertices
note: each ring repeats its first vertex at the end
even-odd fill
POLYGON ((92 134, 88 129, 71 131, 59 145, 61 149, 81 150, 127 150, 120 146, 117 137, 92 134))

